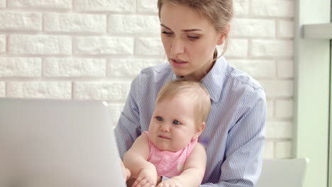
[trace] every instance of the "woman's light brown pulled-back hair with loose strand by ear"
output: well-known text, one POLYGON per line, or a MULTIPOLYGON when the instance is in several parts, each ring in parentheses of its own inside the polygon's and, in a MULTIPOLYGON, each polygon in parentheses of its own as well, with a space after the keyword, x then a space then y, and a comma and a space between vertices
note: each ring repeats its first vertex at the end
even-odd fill
POLYGON ((233 18, 233 0, 157 0, 159 18, 162 5, 165 3, 188 6, 209 18, 217 31, 226 34, 223 52, 221 52, 221 55, 223 55, 228 42, 227 25, 233 18))

